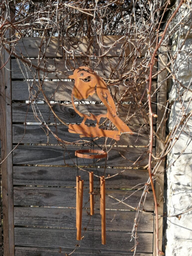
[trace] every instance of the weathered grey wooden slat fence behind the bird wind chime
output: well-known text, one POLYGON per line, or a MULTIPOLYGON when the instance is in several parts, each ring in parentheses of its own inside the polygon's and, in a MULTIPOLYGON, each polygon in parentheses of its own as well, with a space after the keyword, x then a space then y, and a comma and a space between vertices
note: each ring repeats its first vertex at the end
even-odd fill
MULTIPOLYGON (((110 40, 110 37, 106 37, 106 45, 110 44, 110 40)), ((37 58, 39 53, 39 42, 40 38, 24 38, 16 48, 17 54, 20 52, 23 56, 32 58, 30 60, 31 72, 26 71, 22 63, 19 67, 14 58, 6 65, 10 68, 1 71, 2 159, 20 142, 19 146, 2 164, 5 255, 59 256, 68 255, 75 249, 72 255, 133 255, 135 242, 134 239, 131 240, 135 219, 133 208, 137 207, 143 192, 143 185, 148 180, 147 168, 143 167, 148 163, 149 129, 144 122, 143 112, 141 113, 136 105, 130 103, 131 95, 127 96, 124 104, 118 110, 119 117, 124 121, 127 118, 127 113, 128 116, 136 113, 129 120, 136 134, 132 136, 123 134, 116 146, 112 148, 108 146, 108 149, 111 150, 108 153, 106 177, 118 174, 124 168, 130 168, 111 179, 106 179, 106 245, 101 244, 99 197, 95 196, 95 215, 90 219, 89 203, 87 204, 89 201, 89 175, 86 172, 81 172, 82 179, 85 181, 82 218, 85 233, 84 239, 78 244, 75 209, 77 168, 74 156, 74 151, 78 146, 67 145, 66 148, 60 146, 52 134, 46 135, 43 123, 48 123, 49 129, 66 141, 77 141, 80 137, 70 134, 67 127, 62 124, 56 125, 58 121, 49 106, 39 102, 43 100, 41 94, 36 98, 36 117, 42 122, 41 125, 37 125, 32 106, 26 103, 29 100, 29 88, 32 83, 30 79, 34 79, 31 74, 37 65, 37 59, 34 58, 37 58), (133 165, 135 162, 136 164, 133 165), (136 185, 137 187, 135 187, 136 185), (138 188, 140 190, 136 191, 138 188), (127 199, 122 201, 125 197, 127 199), (133 208, 130 208, 129 205, 133 208)), ((80 51, 84 51, 85 45, 86 38, 80 46, 80 51)), ((112 68, 116 65, 115 57, 119 54, 118 49, 117 45, 115 49, 108 52, 110 59, 101 61, 97 67, 100 76, 103 76, 101 66, 105 69, 105 77, 110 75, 112 68)), ((5 52, 5 59, 6 54, 5 52)), ((144 52, 141 55, 144 55, 144 52)), ((53 110, 64 122, 80 123, 82 118, 74 112, 72 105, 63 103, 70 101, 74 82, 62 80, 67 79, 72 72, 65 67, 65 61, 62 59, 62 52, 56 38, 49 43, 46 57, 46 63, 40 64, 39 77, 40 79, 45 77, 41 68, 46 68, 48 72, 43 86, 49 100, 55 101, 52 103, 53 110), (57 59, 54 59, 55 55, 57 59), (60 81, 54 81, 54 79, 60 79, 60 81)), ((138 59, 138 63, 140 63, 140 59, 138 59)), ((82 64, 85 65, 84 60, 77 59, 76 66, 82 64)), ((162 79, 162 77, 159 76, 158 79, 162 79)), ((157 80, 153 80, 153 89, 156 86, 157 80)), ((116 93, 115 87, 112 87, 111 94, 116 93, 116 97, 120 97, 123 89, 122 84, 120 92, 116 93)), ((33 93, 37 90, 35 85, 32 90, 33 93)), ((94 100, 97 101, 97 98, 94 100)), ((146 100, 147 95, 143 98, 143 101, 146 100)), ((156 96, 153 97, 153 101, 156 101, 156 96)), ((164 97, 158 102, 162 101, 164 101, 164 97)), ((80 108, 82 111, 90 109, 93 111, 94 109, 95 113, 104 111, 101 105, 98 110, 96 109, 97 104, 93 103, 81 104, 80 108)), ((153 104, 154 112, 156 112, 156 106, 153 104)), ((147 114, 147 112, 146 109, 145 113, 147 114)), ((159 118, 162 118, 161 109, 157 109, 157 112, 159 118)), ((160 129, 160 134, 162 134, 162 130, 163 128, 160 129)), ((99 139, 97 143, 102 144, 103 139, 99 139)), ((157 146, 160 146, 160 142, 154 143, 154 154, 157 146)), ((104 166, 105 162, 101 160, 99 165, 104 166)), ((98 168, 98 170, 103 171, 102 168, 98 168)), ((161 189, 163 189, 161 176, 158 179, 162 181, 161 189)), ((97 184, 96 178, 95 184, 97 184)), ((160 191, 160 188, 156 189, 160 191)), ((145 212, 141 214, 137 233, 136 255, 140 256, 153 255, 154 207, 152 192, 149 192, 144 204, 145 212)), ((160 196, 160 192, 158 196, 160 196)), ((161 202, 160 208, 162 209, 161 202)), ((161 229, 162 223, 160 222, 161 229)))

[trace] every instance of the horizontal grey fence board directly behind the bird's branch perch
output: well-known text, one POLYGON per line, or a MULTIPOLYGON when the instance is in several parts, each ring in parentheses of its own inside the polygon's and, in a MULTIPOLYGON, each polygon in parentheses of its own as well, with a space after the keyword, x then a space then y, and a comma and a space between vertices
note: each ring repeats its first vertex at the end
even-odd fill
MULTIPOLYGON (((68 142, 78 141, 80 136, 78 134, 69 133, 68 127, 64 125, 49 125, 49 129, 57 135, 60 139, 68 142)), ((118 145, 126 146, 148 146, 149 144, 149 129, 148 126, 131 126, 133 135, 122 134, 118 145)), ((57 144, 57 139, 48 131, 43 125, 18 125, 12 126, 12 142, 19 143, 22 139, 22 143, 34 143, 34 144, 57 144), (23 138, 23 134, 24 138, 23 138), (48 134, 48 135, 47 135, 48 134), (22 139, 23 138, 23 139, 22 139)), ((86 141, 90 141, 90 138, 84 138, 86 141)), ((98 144, 103 144, 103 138, 97 140, 98 144)), ((106 144, 111 143, 111 139, 108 139, 106 144)), ((155 146, 155 143, 154 143, 155 146)))

